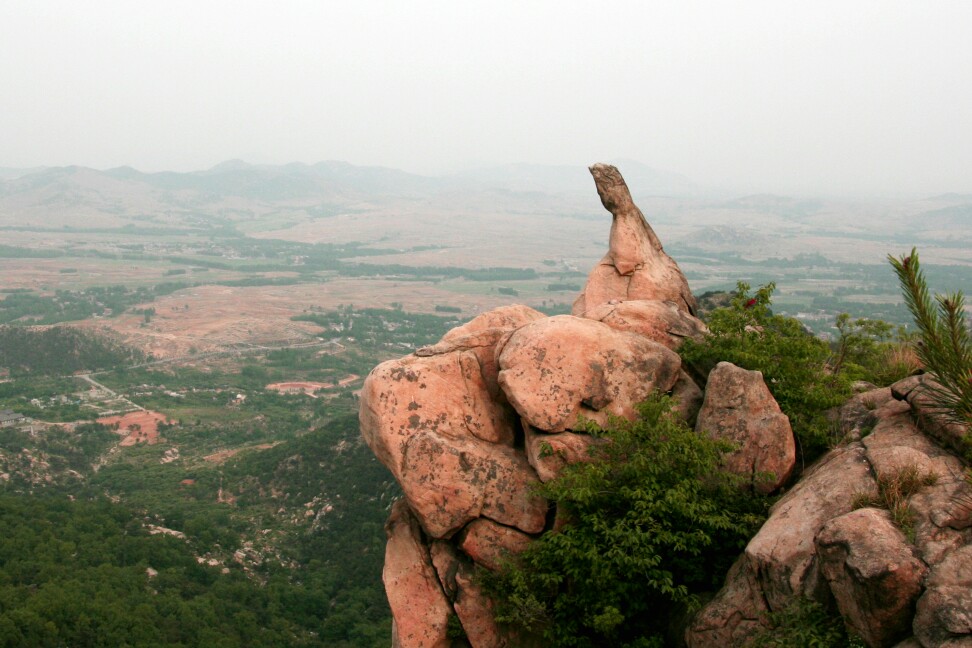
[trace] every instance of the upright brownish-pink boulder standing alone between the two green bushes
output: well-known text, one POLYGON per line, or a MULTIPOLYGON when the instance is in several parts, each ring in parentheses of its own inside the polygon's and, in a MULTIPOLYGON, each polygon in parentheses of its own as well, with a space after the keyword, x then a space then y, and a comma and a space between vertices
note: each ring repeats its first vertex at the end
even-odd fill
POLYGON ((758 371, 720 362, 709 373, 705 400, 695 429, 738 446, 725 457, 726 468, 770 493, 789 479, 796 465, 796 442, 790 419, 758 371))

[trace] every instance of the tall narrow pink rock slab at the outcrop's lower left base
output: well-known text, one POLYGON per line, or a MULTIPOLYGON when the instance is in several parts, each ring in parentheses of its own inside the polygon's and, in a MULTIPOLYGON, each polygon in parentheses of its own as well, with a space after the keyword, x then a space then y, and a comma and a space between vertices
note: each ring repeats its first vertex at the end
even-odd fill
POLYGON ((396 648, 449 648, 446 598, 418 520, 402 500, 385 523, 385 567, 382 581, 391 606, 396 648))

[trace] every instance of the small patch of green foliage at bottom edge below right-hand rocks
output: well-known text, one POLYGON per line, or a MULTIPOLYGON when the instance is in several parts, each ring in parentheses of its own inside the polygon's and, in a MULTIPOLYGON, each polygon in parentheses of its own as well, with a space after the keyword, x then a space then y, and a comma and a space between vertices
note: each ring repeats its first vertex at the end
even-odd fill
POLYGON ((797 599, 789 607, 766 615, 767 625, 746 644, 746 648, 864 648, 857 637, 847 634, 840 614, 808 599, 797 599))

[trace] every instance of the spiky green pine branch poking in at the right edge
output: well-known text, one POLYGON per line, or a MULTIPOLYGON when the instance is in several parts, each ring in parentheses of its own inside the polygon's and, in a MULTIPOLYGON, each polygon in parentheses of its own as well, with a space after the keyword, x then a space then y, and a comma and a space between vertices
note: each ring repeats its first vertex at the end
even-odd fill
POLYGON ((914 248, 910 256, 889 255, 888 260, 918 327, 920 342, 915 351, 938 383, 928 386, 929 394, 942 415, 968 425, 972 423, 972 339, 962 293, 935 295, 933 304, 914 248))

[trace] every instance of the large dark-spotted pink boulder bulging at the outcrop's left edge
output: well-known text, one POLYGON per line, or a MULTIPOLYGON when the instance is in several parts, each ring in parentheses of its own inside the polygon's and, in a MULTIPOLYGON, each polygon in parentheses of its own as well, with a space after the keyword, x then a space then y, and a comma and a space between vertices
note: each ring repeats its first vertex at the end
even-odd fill
POLYGON ((485 515, 535 533, 546 502, 511 447, 513 427, 469 351, 382 363, 365 380, 361 434, 402 485, 425 531, 449 536, 485 515))

